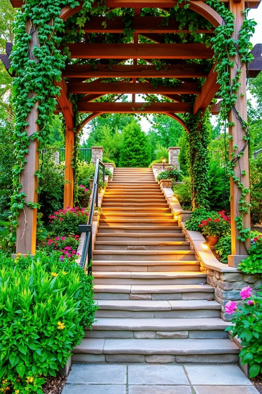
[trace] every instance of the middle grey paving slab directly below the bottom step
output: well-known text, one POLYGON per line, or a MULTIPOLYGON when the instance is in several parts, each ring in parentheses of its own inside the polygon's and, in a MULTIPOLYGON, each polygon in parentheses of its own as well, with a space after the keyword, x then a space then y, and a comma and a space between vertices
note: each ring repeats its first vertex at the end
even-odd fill
POLYGON ((129 385, 188 385, 181 365, 128 365, 129 385))

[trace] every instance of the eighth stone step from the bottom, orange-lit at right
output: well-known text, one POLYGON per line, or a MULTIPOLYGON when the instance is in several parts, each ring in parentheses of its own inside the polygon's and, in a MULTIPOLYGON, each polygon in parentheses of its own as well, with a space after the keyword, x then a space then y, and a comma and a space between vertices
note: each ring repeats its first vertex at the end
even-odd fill
POLYGON ((95 241, 95 250, 189 250, 188 241, 95 241))

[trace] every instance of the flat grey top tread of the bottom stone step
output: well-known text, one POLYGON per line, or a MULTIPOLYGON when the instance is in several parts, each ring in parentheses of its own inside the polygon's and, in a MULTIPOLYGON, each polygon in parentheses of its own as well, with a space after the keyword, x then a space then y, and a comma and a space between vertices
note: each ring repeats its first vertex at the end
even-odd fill
POLYGON ((227 339, 83 339, 73 353, 92 354, 230 354, 239 353, 227 339))

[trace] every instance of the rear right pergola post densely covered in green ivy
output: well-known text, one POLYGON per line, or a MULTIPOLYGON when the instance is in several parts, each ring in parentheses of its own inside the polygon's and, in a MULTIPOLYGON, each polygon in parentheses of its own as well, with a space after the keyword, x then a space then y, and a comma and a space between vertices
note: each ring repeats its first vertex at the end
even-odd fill
POLYGON ((206 111, 201 119, 198 115, 185 115, 185 123, 190 134, 186 134, 187 163, 191 179, 192 206, 195 208, 209 208, 209 112, 206 111))

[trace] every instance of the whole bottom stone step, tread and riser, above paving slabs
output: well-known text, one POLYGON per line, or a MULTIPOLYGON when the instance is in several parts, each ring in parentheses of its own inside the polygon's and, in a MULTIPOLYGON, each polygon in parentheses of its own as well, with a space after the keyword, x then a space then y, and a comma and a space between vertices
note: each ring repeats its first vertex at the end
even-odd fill
POLYGON ((93 339, 73 349, 78 362, 237 362, 229 339, 93 339))

